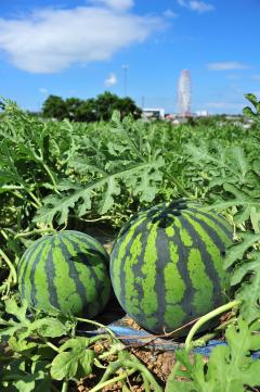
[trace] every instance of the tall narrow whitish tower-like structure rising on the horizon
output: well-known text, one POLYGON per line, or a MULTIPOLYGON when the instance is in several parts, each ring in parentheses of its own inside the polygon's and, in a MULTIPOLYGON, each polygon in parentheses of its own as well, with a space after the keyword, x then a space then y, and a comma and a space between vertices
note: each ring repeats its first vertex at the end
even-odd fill
POLYGON ((182 117, 191 116, 191 74, 183 69, 178 84, 178 112, 182 117))

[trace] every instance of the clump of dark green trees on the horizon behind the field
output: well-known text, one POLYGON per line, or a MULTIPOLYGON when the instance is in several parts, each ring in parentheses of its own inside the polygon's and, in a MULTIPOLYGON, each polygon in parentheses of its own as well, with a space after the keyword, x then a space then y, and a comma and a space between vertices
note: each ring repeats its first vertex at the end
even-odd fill
POLYGON ((75 122, 109 121, 115 110, 120 111, 121 116, 132 114, 134 118, 141 116, 141 109, 129 98, 105 91, 96 98, 81 100, 79 98, 62 99, 57 96, 49 96, 43 102, 41 116, 62 121, 68 118, 75 122))

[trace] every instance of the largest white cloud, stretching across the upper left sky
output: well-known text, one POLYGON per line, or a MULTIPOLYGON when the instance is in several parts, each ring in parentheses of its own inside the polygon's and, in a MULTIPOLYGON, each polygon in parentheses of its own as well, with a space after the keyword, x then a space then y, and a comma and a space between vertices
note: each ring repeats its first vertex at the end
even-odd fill
MULTIPOLYGON (((123 0, 125 8, 127 1, 130 4, 123 0)), ((116 0, 109 2, 116 4, 116 0)), ((75 63, 108 60, 162 26, 162 18, 134 15, 126 9, 42 9, 18 20, 0 18, 0 50, 20 69, 54 73, 75 63)))

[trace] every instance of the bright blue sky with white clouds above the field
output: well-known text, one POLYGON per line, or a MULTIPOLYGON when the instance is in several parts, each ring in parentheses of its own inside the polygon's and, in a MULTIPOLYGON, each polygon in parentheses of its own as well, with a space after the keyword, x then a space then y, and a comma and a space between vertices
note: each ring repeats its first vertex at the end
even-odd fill
POLYGON ((192 111, 240 113, 260 97, 259 25, 260 0, 0 0, 0 96, 39 110, 127 89, 176 112, 187 68, 192 111))

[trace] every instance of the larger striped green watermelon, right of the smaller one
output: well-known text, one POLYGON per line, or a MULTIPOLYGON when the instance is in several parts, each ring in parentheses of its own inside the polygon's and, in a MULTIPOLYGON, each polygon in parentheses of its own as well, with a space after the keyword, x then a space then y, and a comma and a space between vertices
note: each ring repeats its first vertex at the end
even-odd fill
POLYGON ((227 222, 183 200, 140 211, 121 229, 110 278, 122 308, 139 325, 172 331, 225 302, 227 222))

